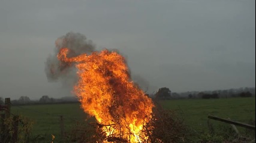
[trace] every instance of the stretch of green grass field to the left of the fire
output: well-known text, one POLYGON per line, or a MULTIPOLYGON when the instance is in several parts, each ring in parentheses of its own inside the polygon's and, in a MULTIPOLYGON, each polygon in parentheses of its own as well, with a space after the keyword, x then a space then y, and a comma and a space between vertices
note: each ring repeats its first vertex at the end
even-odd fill
MULTIPOLYGON (((1 111, 0 111, 1 113, 1 111)), ((76 123, 85 122, 79 104, 13 105, 10 116, 23 116, 33 122, 32 138, 62 139, 76 123), (70 107, 71 105, 71 107, 70 107), (74 108, 76 107, 76 108, 74 108)), ((1 142, 1 141, 0 141, 1 142)))

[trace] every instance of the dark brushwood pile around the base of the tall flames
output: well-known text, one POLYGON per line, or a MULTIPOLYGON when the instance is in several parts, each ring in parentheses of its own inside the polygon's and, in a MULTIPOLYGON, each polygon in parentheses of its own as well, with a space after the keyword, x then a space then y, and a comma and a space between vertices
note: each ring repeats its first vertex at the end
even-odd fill
MULTIPOLYGON (((99 123, 78 124, 74 126, 67 138, 68 142, 131 142, 122 136, 106 135, 104 127, 116 125, 101 125, 99 123)), ((173 111, 164 110, 157 106, 153 108, 153 116, 142 129, 143 135, 148 138, 140 142, 187 142, 187 133, 183 120, 177 118, 173 111)), ((132 135, 132 133, 131 133, 132 135)))

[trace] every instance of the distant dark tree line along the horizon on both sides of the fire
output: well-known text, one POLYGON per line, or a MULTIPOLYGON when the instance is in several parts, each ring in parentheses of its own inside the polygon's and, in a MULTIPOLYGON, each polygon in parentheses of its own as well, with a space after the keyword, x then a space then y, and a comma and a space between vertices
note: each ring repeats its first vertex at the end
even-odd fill
MULTIPOLYGON (((216 90, 216 91, 191 91, 191 92, 171 92, 169 88, 159 88, 155 94, 146 94, 148 97, 156 100, 175 100, 175 99, 217 99, 217 98, 233 98, 233 97, 255 97, 255 88, 239 88, 228 90, 216 90)), ((13 105, 28 105, 28 104, 58 104, 65 102, 78 102, 76 97, 62 97, 52 98, 48 95, 43 95, 39 100, 30 100, 27 96, 22 96, 18 100, 12 100, 13 105)), ((4 104, 4 100, 0 97, 0 105, 4 104)))

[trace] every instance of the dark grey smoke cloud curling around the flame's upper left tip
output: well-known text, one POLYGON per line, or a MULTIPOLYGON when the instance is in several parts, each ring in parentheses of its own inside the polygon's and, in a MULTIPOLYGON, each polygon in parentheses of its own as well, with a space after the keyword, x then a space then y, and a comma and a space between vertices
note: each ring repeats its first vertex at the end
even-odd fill
POLYGON ((76 57, 80 54, 91 54, 95 51, 95 45, 87 40, 85 35, 69 32, 55 41, 54 55, 49 55, 45 62, 46 76, 49 82, 61 80, 64 85, 73 86, 77 81, 76 68, 74 65, 60 63, 57 58, 59 49, 68 48, 70 53, 68 57, 76 57))

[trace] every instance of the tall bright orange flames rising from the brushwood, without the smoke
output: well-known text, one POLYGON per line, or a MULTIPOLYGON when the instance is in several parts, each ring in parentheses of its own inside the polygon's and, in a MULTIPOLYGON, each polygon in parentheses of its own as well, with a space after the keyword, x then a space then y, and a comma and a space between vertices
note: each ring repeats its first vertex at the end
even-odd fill
POLYGON ((74 92, 83 110, 97 119, 107 139, 145 142, 141 132, 152 117, 153 102, 130 79, 125 58, 107 49, 68 57, 68 48, 59 50, 61 66, 76 64, 79 82, 74 92))

